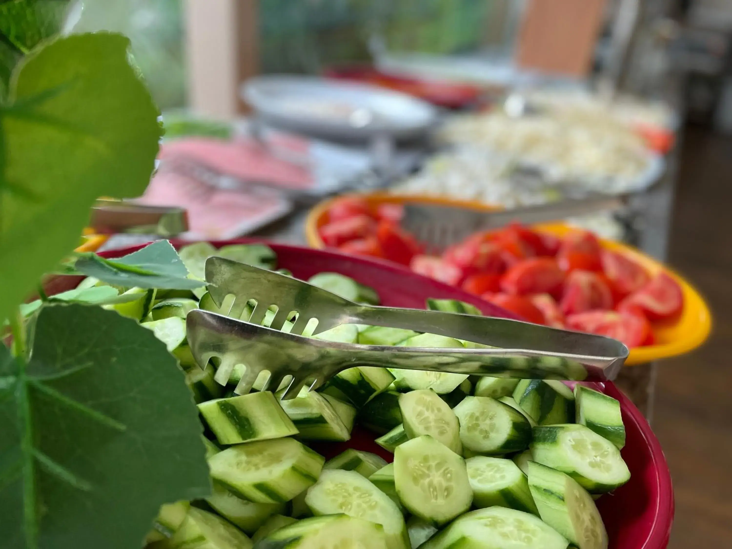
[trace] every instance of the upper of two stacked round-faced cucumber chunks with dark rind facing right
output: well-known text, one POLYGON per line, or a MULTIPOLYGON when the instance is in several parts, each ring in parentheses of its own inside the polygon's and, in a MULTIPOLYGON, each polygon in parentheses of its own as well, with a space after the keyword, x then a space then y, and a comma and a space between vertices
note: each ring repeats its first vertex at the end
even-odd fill
POLYGON ((482 455, 522 452, 531 441, 531 425, 510 406, 490 397, 466 397, 455 406, 463 447, 482 455))

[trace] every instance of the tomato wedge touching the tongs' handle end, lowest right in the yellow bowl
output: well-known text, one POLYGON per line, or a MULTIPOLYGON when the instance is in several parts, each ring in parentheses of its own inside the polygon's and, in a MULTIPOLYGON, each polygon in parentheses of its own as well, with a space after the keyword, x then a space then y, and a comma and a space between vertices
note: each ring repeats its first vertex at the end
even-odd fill
POLYGON ((567 328, 605 335, 638 347, 649 340, 651 324, 643 315, 612 310, 593 310, 567 316, 567 328))

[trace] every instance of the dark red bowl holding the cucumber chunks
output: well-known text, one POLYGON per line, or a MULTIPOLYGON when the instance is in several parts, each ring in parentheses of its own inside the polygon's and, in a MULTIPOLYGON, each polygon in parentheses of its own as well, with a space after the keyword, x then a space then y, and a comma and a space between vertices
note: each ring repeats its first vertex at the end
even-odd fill
MULTIPOLYGON (((220 247, 226 244, 256 242, 253 239, 239 239, 226 242, 212 242, 220 247)), ((176 247, 184 244, 173 242, 176 247)), ((384 305, 391 307, 424 308, 428 297, 460 299, 475 305, 485 315, 513 318, 510 313, 466 292, 452 288, 427 277, 416 275, 408 269, 367 258, 359 258, 326 250, 271 244, 277 253, 278 266, 289 269, 297 278, 307 279, 318 272, 338 272, 353 277, 359 283, 373 286, 384 305)), ((100 255, 113 258, 127 255, 138 247, 114 250, 100 255)), ((49 293, 68 290, 78 283, 78 277, 57 278, 47 290, 49 293)), ((626 430, 626 444, 622 456, 630 468, 630 481, 597 501, 602 520, 608 529, 610 549, 664 549, 673 523, 673 488, 671 474, 658 439, 653 434, 643 414, 612 383, 592 384, 606 394, 620 401, 626 430)), ((347 443, 321 444, 318 449, 330 458, 346 447, 366 450, 381 455, 386 460, 392 454, 379 447, 374 436, 366 430, 356 428, 347 443)))

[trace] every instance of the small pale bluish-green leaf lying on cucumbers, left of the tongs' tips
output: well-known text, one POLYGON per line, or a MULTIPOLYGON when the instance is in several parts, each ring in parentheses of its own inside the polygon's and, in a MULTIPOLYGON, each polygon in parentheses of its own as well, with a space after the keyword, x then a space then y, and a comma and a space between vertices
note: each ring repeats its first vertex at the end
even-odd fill
POLYGON ((105 259, 95 253, 79 254, 75 269, 105 283, 132 288, 195 290, 206 285, 188 277, 176 249, 167 240, 159 240, 122 258, 105 259))

